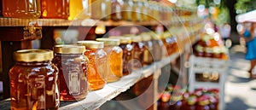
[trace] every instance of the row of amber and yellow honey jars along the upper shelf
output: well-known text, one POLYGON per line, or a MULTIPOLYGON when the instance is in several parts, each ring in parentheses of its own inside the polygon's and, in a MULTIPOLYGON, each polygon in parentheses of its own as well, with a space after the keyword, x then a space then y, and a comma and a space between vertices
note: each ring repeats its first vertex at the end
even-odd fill
MULTIPOLYGON (((3 16, 68 20, 171 20, 173 15, 191 15, 188 9, 173 9, 147 0, 1 0, 3 16)), ((1 8, 2 9, 2 8, 1 8)))

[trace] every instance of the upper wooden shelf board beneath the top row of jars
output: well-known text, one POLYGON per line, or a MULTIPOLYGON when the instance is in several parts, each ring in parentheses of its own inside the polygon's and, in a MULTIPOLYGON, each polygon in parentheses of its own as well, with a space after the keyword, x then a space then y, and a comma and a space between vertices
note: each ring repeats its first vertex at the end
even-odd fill
POLYGON ((161 21, 140 21, 140 22, 131 22, 131 21, 103 21, 103 20, 64 20, 64 19, 19 19, 19 18, 0 18, 0 26, 29 26, 30 22, 37 22, 39 26, 156 26, 159 24, 162 25, 171 25, 175 23, 183 23, 190 20, 201 20, 195 16, 187 17, 173 17, 172 20, 161 21))

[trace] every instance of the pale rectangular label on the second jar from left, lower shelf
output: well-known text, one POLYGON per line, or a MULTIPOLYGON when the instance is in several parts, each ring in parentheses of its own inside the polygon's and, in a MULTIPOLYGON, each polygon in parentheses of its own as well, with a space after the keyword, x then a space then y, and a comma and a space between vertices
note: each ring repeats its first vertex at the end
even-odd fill
POLYGON ((68 89, 70 95, 80 94, 80 71, 79 65, 73 64, 68 72, 68 89))

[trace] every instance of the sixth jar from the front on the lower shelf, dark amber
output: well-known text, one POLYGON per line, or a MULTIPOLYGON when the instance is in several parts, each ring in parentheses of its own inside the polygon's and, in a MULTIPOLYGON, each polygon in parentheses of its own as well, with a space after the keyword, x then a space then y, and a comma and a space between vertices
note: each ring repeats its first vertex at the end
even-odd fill
POLYGON ((131 45, 133 47, 132 61, 131 61, 131 70, 137 70, 143 67, 143 56, 144 50, 146 47, 143 44, 143 39, 139 36, 132 36, 131 45))

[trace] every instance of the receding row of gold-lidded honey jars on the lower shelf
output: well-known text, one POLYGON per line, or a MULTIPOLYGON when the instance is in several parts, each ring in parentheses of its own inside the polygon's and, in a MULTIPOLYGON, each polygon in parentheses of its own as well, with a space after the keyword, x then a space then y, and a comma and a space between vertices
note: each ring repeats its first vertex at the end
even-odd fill
POLYGON ((56 109, 60 101, 82 100, 89 90, 160 61, 169 43, 151 34, 16 51, 9 70, 11 109, 56 109))

